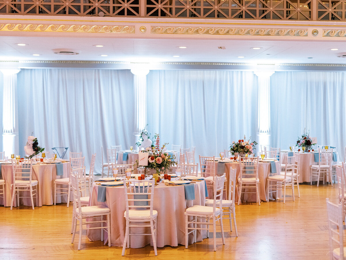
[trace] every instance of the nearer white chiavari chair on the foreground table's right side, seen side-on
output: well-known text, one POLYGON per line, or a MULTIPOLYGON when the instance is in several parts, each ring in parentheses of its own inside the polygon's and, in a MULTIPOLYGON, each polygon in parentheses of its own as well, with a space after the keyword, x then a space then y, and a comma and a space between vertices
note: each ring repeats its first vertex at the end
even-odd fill
POLYGON ((215 176, 213 181, 213 203, 212 206, 194 205, 185 211, 185 248, 188 248, 189 234, 194 232, 194 242, 196 242, 197 230, 209 231, 209 226, 213 226, 214 251, 216 251, 216 221, 220 222, 222 244, 225 244, 224 226, 222 223, 222 194, 224 193, 225 174, 215 176), (192 220, 189 220, 192 218, 192 220), (198 221, 199 220, 199 221, 198 221), (192 224, 189 226, 189 224, 192 224), (208 227, 203 227, 204 225, 208 227), (200 226, 200 227, 199 227, 200 226), (191 231, 189 231, 189 229, 191 231))

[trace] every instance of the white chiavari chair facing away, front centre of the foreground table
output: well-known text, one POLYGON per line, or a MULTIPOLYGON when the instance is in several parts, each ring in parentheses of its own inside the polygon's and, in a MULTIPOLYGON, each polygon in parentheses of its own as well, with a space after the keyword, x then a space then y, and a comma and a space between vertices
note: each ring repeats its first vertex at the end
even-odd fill
POLYGON ((154 205, 155 180, 124 180, 126 229, 121 255, 125 255, 126 245, 130 247, 130 235, 150 235, 152 237, 154 252, 156 250, 157 210, 154 205), (129 188, 127 185, 129 184, 129 188), (150 227, 151 233, 131 233, 131 227, 150 227))

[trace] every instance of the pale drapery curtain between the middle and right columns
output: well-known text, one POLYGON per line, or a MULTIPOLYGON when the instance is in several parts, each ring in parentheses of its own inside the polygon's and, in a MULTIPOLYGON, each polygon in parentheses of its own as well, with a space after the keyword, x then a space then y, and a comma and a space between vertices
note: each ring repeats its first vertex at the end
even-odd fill
POLYGON ((257 77, 249 71, 157 70, 147 76, 148 131, 198 155, 256 138, 257 77))

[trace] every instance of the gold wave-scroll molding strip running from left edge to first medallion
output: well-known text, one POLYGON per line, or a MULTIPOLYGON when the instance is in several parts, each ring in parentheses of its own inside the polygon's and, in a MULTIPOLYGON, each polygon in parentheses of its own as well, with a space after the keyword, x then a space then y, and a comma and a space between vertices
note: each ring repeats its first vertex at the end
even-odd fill
POLYGON ((0 23, 2 32, 135 33, 135 26, 0 23))

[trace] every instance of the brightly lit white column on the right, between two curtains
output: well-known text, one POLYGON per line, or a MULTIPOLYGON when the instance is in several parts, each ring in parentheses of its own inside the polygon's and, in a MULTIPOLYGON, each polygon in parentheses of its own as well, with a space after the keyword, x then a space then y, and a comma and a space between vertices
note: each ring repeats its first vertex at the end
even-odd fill
POLYGON ((255 71, 258 77, 258 130, 257 151, 261 146, 270 146, 270 76, 274 71, 255 71))

